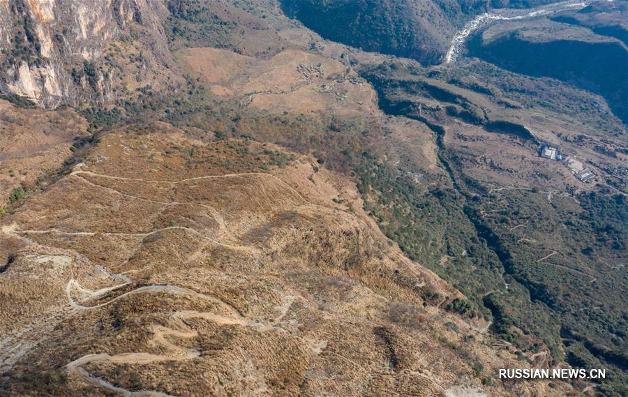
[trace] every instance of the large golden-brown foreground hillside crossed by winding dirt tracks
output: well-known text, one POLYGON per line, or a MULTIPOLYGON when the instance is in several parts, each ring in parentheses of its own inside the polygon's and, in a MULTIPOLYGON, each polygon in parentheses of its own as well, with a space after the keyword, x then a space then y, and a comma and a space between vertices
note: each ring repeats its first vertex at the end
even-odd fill
POLYGON ((515 365, 312 163, 163 124, 104 137, 2 220, 1 389, 434 396, 515 365))

